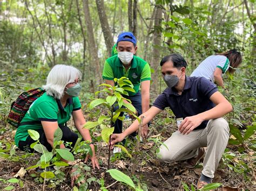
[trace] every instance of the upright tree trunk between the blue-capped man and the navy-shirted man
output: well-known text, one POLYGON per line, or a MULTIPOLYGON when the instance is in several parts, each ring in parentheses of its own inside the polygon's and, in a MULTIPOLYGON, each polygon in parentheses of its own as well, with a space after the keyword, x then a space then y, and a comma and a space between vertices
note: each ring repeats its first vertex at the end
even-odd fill
MULTIPOLYGON (((160 6, 157 6, 156 15, 154 17, 154 29, 159 29, 161 26, 163 10, 160 6)), ((154 30, 153 33, 153 55, 151 61, 151 67, 154 69, 154 73, 152 74, 152 89, 154 93, 157 93, 158 87, 158 66, 160 61, 160 52, 159 47, 161 46, 161 32, 159 30, 154 30)))

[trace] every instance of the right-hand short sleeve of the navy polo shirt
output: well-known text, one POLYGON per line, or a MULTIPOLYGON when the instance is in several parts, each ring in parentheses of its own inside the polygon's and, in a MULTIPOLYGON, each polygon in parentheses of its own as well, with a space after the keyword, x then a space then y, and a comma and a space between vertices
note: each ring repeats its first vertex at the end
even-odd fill
POLYGON ((200 77, 199 90, 201 94, 205 95, 210 99, 212 94, 218 91, 217 86, 205 77, 200 77))

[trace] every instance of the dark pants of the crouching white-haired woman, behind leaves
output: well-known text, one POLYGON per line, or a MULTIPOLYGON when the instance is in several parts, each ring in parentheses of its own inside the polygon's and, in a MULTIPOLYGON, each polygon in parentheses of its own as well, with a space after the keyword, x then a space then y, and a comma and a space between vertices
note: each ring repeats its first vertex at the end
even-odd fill
MULTIPOLYGON (((78 139, 78 135, 74 132, 72 132, 68 126, 65 126, 65 125, 59 125, 59 128, 62 130, 62 133, 63 133, 63 136, 62 136, 62 140, 64 142, 72 142, 71 144, 71 147, 74 147, 76 142, 77 142, 77 139, 78 139)), ((46 136, 45 136, 45 133, 44 133, 44 130, 43 129, 39 129, 39 130, 36 130, 40 137, 39 137, 39 142, 44 145, 48 151, 51 151, 52 150, 52 147, 51 145, 48 143, 47 139, 46 139, 46 136)), ((33 140, 30 136, 28 136, 28 138, 26 138, 25 141, 23 140, 20 140, 19 141, 19 149, 21 149, 22 151, 26 151, 26 152, 35 152, 35 150, 33 150, 33 148, 30 147, 30 145, 32 143, 35 143, 36 141, 33 140)))

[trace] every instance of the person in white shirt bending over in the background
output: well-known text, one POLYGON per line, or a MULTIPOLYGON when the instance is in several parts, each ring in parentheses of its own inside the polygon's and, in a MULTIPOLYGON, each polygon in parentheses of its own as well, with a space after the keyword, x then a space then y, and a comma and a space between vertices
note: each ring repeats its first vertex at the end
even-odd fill
POLYGON ((190 76, 206 77, 206 79, 215 82, 218 86, 224 87, 222 76, 227 71, 234 73, 240 63, 242 56, 236 49, 211 55, 207 57, 199 66, 192 72, 190 76))

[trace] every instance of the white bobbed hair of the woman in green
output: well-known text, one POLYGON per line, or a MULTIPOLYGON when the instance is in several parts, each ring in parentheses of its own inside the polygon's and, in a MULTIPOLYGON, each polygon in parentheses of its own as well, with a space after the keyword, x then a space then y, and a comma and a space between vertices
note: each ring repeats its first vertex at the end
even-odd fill
POLYGON ((47 82, 43 89, 46 90, 47 95, 60 100, 64 95, 66 85, 74 82, 77 77, 81 79, 81 76, 81 72, 73 66, 55 65, 48 74, 47 82))

